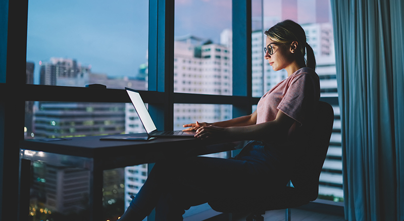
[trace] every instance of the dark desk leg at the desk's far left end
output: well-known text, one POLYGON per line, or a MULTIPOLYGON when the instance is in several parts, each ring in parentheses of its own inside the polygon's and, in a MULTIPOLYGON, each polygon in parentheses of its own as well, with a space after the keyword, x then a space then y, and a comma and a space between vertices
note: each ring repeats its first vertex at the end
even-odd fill
POLYGON ((18 214, 17 220, 26 221, 29 216, 29 190, 31 175, 31 160, 20 158, 18 183, 18 214))

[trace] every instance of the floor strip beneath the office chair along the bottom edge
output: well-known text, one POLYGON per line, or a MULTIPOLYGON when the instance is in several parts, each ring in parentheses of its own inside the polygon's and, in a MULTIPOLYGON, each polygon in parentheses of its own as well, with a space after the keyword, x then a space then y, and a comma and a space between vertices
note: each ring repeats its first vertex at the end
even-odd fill
MULTIPOLYGON (((285 221, 285 210, 267 211, 264 216, 264 221, 285 221)), ((313 212, 302 209, 291 209, 292 221, 345 221, 343 216, 331 215, 319 212, 313 212)), ((245 221, 245 216, 242 216, 235 221, 245 221)))

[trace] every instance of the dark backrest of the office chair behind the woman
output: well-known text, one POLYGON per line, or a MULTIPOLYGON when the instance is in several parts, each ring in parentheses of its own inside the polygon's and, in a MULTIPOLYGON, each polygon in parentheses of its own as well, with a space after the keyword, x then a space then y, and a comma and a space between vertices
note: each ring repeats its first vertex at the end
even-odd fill
POLYGON ((309 145, 299 148, 299 157, 295 160, 291 182, 295 190, 308 201, 317 199, 319 178, 327 156, 328 146, 334 123, 334 111, 329 103, 319 101, 314 127, 308 137, 309 145))

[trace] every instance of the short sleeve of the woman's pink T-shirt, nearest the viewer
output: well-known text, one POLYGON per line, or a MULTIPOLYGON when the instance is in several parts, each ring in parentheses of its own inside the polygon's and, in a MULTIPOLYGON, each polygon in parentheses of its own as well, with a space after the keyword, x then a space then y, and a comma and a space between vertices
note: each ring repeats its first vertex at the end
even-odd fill
POLYGON ((303 68, 290 76, 278 109, 304 125, 320 99, 320 80, 313 69, 303 68))

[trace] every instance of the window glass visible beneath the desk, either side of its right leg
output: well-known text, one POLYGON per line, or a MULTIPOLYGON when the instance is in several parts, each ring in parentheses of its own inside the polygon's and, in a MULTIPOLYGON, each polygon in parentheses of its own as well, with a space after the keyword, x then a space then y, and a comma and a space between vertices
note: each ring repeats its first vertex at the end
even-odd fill
MULTIPOLYGON (((30 220, 87 220, 90 171, 33 161, 30 220)), ((147 164, 104 171, 103 220, 117 220, 147 179, 147 164)))

